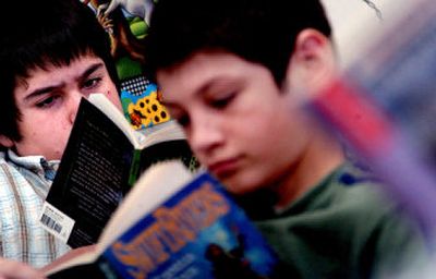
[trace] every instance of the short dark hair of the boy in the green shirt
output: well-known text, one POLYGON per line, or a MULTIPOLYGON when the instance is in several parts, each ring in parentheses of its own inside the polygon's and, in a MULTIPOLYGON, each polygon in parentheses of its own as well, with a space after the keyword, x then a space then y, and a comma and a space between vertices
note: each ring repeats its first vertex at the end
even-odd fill
POLYGON ((298 34, 330 37, 319 0, 159 0, 146 37, 148 77, 202 50, 230 51, 268 68, 281 85, 298 34))

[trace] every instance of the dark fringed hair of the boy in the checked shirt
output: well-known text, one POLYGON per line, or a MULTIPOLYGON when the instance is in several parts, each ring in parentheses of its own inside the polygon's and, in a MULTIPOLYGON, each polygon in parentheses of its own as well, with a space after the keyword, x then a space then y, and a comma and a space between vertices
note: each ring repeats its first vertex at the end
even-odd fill
POLYGON ((80 0, 4 1, 0 34, 0 134, 11 140, 22 140, 13 93, 31 70, 68 65, 92 53, 104 60, 118 85, 109 37, 92 9, 80 0))

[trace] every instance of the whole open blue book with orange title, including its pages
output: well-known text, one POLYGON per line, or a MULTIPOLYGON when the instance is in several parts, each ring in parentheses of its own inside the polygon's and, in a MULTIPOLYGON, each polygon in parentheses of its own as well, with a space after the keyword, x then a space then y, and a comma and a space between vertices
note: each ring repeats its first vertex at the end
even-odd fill
POLYGON ((48 278, 277 278, 275 254, 207 172, 180 161, 150 167, 95 251, 60 258, 48 278))

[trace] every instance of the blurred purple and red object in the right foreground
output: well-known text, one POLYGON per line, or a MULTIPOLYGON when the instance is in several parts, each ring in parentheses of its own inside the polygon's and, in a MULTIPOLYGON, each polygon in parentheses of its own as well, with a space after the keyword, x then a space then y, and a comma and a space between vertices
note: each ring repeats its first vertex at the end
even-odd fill
POLYGON ((434 248, 436 5, 417 0, 396 12, 310 104, 387 182, 434 248))

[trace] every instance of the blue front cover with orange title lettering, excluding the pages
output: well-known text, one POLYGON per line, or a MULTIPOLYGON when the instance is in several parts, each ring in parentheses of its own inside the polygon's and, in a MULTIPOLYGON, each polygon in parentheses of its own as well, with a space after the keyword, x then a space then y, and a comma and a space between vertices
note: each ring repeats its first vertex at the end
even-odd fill
POLYGON ((121 278, 270 278, 277 258, 204 173, 119 238, 99 258, 121 278))

